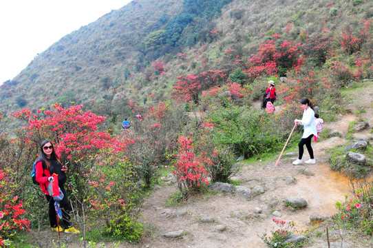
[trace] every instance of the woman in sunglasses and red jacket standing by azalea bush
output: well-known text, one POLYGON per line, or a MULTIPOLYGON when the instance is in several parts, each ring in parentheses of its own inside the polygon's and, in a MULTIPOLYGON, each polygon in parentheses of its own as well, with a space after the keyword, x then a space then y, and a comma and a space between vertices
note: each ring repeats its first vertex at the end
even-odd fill
POLYGON ((75 229, 70 221, 70 202, 67 199, 64 187, 67 179, 65 174, 65 172, 67 172, 67 166, 61 165, 60 158, 56 155, 52 142, 45 140, 41 143, 40 148, 41 153, 39 157, 41 161, 36 163, 35 166, 36 182, 39 183, 41 191, 45 193, 47 202, 49 203, 50 227, 52 227, 52 231, 58 231, 58 229, 59 231, 63 231, 63 229, 65 229, 65 233, 78 234, 81 231, 75 229), (63 199, 59 202, 63 216, 63 228, 61 226, 58 227, 56 210, 54 209, 54 199, 47 192, 48 183, 53 179, 51 175, 54 173, 58 175, 58 186, 63 193, 63 199))

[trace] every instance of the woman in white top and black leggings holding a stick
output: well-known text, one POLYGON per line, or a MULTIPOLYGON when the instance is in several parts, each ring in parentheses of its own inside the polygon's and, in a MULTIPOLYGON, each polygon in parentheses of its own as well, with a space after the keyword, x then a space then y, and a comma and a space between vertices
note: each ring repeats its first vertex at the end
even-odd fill
POLYGON ((315 158, 313 156, 313 149, 311 147, 311 140, 312 137, 315 135, 317 136, 316 131, 316 123, 315 123, 315 112, 313 111, 313 105, 309 99, 304 97, 301 99, 301 108, 304 110, 303 118, 301 120, 295 119, 294 124, 303 125, 303 136, 301 137, 301 141, 299 141, 298 148, 299 154, 298 159, 292 162, 293 165, 301 165, 302 163, 302 156, 303 156, 303 145, 306 145, 308 149, 308 153, 310 154, 310 159, 306 161, 308 164, 316 163, 315 158))

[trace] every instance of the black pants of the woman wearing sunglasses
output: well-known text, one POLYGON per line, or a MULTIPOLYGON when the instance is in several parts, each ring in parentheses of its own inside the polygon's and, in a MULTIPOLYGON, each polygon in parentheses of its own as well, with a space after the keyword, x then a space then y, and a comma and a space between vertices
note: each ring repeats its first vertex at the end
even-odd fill
MULTIPOLYGON (((62 212, 62 220, 63 220, 63 228, 67 229, 72 226, 72 223, 70 221, 70 202, 67 199, 67 194, 65 191, 65 187, 61 187, 61 191, 63 193, 63 199, 59 202, 61 212, 62 212)), ((49 203, 49 217, 50 217, 50 227, 57 227, 57 216, 56 216, 56 210, 54 209, 54 200, 52 196, 45 195, 47 197, 47 201, 49 203)), ((61 221, 58 220, 58 225, 61 227, 61 221)))

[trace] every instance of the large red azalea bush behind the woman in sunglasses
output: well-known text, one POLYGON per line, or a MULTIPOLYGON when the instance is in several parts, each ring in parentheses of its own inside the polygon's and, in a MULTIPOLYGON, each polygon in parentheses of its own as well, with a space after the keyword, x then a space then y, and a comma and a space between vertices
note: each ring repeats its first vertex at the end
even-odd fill
MULTIPOLYGON (((54 143, 56 154, 61 156, 61 163, 68 162, 67 194, 74 210, 73 221, 85 228, 103 220, 107 233, 137 240, 141 231, 137 217, 143 198, 142 185, 138 185, 140 176, 134 169, 136 165, 129 163, 127 151, 127 146, 134 140, 100 132, 98 127, 105 117, 83 112, 82 107, 63 108, 56 104, 50 110, 36 113, 21 110, 12 114, 26 122, 17 129, 15 138, 7 140, 9 149, 1 151, 8 159, 6 166, 21 175, 19 185, 23 190, 20 197, 28 202, 28 198, 36 194, 30 183, 31 165, 39 153, 41 141, 49 139, 54 143)), ((43 200, 39 202, 44 203, 43 200)), ((32 211, 35 205, 27 207, 33 213, 32 219, 43 218, 45 213, 32 211)))

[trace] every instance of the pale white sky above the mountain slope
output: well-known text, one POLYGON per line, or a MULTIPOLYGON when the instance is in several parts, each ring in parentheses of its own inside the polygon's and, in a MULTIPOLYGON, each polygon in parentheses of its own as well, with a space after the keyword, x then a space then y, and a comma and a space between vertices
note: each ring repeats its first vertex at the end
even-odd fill
POLYGON ((0 85, 53 43, 131 0, 0 0, 0 85))

